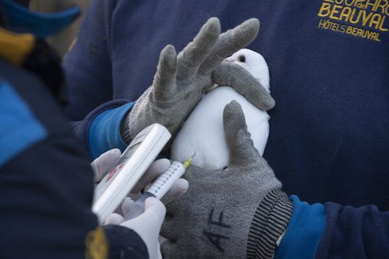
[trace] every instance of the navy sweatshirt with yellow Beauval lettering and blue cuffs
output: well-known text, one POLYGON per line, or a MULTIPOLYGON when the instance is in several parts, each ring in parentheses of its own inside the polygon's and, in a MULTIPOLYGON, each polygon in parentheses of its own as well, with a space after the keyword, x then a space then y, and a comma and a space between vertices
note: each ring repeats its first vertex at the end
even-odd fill
POLYGON ((209 17, 222 31, 256 17, 248 48, 267 60, 276 100, 265 158, 285 192, 315 203, 291 197, 276 257, 388 258, 388 9, 378 0, 95 0, 65 58, 67 112, 98 156, 121 144, 108 121, 131 108, 119 99, 151 85, 166 44, 180 51, 209 17))

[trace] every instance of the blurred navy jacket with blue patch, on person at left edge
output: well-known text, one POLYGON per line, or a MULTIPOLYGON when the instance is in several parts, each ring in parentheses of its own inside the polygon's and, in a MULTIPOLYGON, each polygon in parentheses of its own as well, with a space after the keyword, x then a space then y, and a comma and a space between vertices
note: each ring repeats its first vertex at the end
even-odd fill
POLYGON ((33 67, 0 58, 0 258, 147 258, 134 231, 98 226, 88 157, 33 67))

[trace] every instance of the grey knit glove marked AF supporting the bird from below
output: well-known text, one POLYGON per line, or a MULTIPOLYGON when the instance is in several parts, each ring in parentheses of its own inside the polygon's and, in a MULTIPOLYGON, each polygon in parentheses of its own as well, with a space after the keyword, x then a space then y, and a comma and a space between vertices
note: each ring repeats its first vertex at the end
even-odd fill
POLYGON ((247 131, 240 105, 224 108, 229 167, 190 166, 188 192, 167 206, 165 258, 272 258, 292 203, 247 131))

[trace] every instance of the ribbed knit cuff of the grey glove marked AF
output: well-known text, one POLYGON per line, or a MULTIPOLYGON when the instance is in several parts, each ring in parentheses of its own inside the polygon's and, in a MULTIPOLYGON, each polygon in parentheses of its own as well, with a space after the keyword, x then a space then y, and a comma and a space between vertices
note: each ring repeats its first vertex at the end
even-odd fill
POLYGON ((276 242, 285 232, 293 203, 280 189, 269 192, 253 217, 247 242, 247 258, 273 258, 276 242))

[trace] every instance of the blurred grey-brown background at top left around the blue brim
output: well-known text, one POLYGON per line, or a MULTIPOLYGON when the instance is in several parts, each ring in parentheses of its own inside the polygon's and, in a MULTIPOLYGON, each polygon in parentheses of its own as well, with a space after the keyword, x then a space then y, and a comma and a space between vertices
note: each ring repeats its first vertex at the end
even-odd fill
POLYGON ((51 46, 60 53, 60 56, 63 56, 66 53, 73 40, 76 38, 78 28, 81 24, 81 19, 83 15, 85 15, 85 10, 88 8, 91 1, 92 0, 32 0, 30 2, 30 8, 39 12, 56 12, 74 5, 78 5, 81 8, 82 14, 78 17, 76 22, 72 24, 72 26, 69 26, 69 28, 65 29, 62 33, 48 38, 49 44, 51 44, 51 46))

